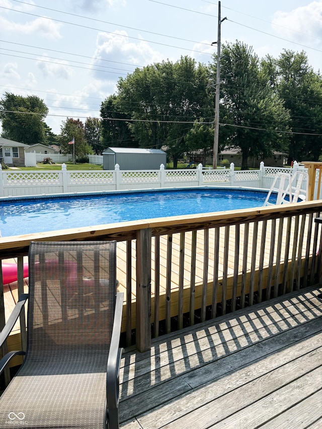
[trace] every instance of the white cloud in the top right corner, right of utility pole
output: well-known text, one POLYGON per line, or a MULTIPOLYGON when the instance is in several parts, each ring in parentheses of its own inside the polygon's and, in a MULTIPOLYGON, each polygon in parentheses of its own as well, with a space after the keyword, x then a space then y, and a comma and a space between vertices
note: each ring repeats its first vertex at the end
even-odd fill
POLYGON ((314 1, 290 12, 278 11, 272 23, 275 24, 274 30, 293 41, 321 45, 318 38, 322 37, 322 1, 314 1))

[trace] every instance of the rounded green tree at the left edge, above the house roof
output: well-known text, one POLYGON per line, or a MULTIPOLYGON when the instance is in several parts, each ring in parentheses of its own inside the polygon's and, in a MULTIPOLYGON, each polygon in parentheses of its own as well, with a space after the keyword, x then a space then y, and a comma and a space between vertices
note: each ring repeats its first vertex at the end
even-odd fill
POLYGON ((47 114, 48 108, 39 97, 6 92, 0 101, 2 136, 25 144, 46 144, 47 114))

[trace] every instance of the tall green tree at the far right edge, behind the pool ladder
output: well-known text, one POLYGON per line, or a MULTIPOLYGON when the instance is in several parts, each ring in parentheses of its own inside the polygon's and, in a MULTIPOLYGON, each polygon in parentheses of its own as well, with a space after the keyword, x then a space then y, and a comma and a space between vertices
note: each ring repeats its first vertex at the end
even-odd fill
POLYGON ((317 161, 322 150, 322 78, 308 65, 305 52, 284 50, 276 61, 277 93, 289 110, 292 160, 317 161), (315 134, 315 135, 314 135, 315 134))

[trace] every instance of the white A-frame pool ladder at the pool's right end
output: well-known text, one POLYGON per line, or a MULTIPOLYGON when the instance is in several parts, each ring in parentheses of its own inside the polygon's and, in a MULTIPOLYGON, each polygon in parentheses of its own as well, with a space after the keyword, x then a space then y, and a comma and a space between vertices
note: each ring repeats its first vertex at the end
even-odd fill
POLYGON ((300 199, 305 201, 308 192, 308 174, 304 171, 296 171, 293 176, 288 173, 277 173, 274 182, 269 190, 264 206, 274 206, 278 204, 297 203, 300 199), (305 186, 304 181, 306 181, 305 186), (277 193, 276 202, 270 203, 272 193, 277 193))

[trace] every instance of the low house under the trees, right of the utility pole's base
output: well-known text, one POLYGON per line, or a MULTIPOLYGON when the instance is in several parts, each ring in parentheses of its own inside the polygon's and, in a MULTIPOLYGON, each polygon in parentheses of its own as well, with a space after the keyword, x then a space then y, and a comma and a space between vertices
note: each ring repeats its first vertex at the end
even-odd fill
MULTIPOLYGON (((259 168, 260 163, 264 161, 264 164, 268 167, 283 167, 285 156, 285 153, 282 152, 273 152, 272 156, 268 158, 250 156, 247 160, 247 164, 251 168, 259 168)), ((233 162, 235 167, 241 167, 242 159, 243 156, 239 148, 226 148, 218 153, 218 165, 221 166, 225 165, 229 167, 231 162, 233 162)))

